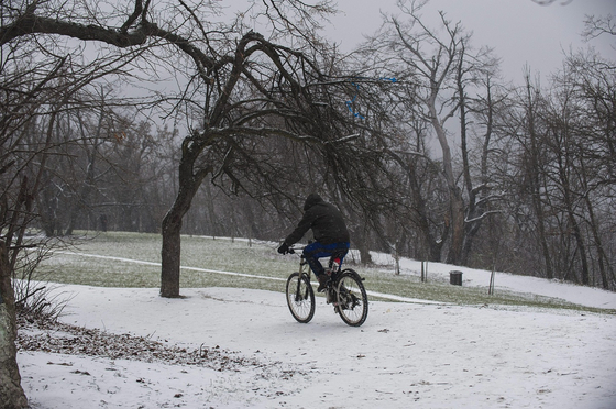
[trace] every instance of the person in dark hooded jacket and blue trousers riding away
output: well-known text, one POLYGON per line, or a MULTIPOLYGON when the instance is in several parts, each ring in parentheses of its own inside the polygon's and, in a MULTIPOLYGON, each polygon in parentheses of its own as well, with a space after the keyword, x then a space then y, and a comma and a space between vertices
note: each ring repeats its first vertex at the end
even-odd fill
POLYGON ((319 257, 330 257, 336 254, 342 264, 342 259, 349 252, 349 231, 342 213, 336 206, 326 202, 317 194, 310 194, 304 204, 304 217, 293 233, 280 244, 278 253, 287 254, 289 246, 300 241, 310 229, 312 229, 315 242, 304 248, 304 256, 319 280, 317 291, 322 291, 329 276, 319 262, 319 257))

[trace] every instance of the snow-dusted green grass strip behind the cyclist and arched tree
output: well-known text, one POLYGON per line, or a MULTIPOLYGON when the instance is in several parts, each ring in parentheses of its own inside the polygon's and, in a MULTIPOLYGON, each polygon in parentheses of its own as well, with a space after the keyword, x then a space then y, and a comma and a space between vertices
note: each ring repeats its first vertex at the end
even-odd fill
MULTIPOLYGON (((348 261, 350 259, 349 256, 348 261)), ((283 257, 277 254, 276 244, 273 243, 183 236, 183 267, 232 272, 254 277, 183 268, 180 287, 237 287, 284 292, 285 280, 290 273, 297 270, 298 261, 297 256, 283 257)), ((37 274, 47 281, 61 284, 157 288, 161 284, 160 263, 161 235, 109 232, 96 236, 85 235, 75 246, 56 251, 41 264, 37 274)), ((403 274, 395 275, 393 266, 364 267, 352 262, 345 263, 345 266, 365 277, 367 290, 381 294, 455 305, 528 306, 595 311, 593 308, 531 294, 499 290, 496 295, 488 296, 486 287, 451 286, 438 277, 421 283, 418 272, 403 270, 403 274)))

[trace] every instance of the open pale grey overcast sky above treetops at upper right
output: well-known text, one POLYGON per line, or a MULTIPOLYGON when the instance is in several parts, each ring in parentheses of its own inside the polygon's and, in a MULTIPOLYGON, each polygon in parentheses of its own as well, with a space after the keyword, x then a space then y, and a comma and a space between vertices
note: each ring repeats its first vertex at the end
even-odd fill
MULTIPOLYGON (((351 49, 381 25, 381 11, 397 12, 396 0, 337 0, 341 13, 331 19, 326 33, 351 49)), ((581 33, 585 14, 616 15, 616 0, 572 0, 562 5, 539 5, 531 0, 430 0, 422 11, 427 19, 442 10, 449 20, 461 21, 473 32, 475 46, 487 45, 502 58, 506 79, 522 79, 524 67, 546 76, 560 68, 563 51, 586 47, 581 33)), ((428 20, 429 21, 429 20, 428 20)), ((616 59, 616 38, 604 35, 591 42, 602 55, 616 59)))

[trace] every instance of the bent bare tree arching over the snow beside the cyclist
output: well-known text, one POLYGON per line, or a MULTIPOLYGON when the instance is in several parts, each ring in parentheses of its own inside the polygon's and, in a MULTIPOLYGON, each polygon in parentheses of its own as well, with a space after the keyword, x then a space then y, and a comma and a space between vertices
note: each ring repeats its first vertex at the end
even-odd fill
MULTIPOLYGON (((289 2, 293 3, 293 2, 289 2)), ((179 233, 182 219, 207 175, 228 175, 238 141, 273 135, 301 143, 321 145, 321 152, 336 157, 337 140, 348 141, 346 118, 332 107, 337 89, 349 84, 332 82, 319 68, 328 60, 312 26, 315 13, 329 11, 327 3, 310 7, 293 3, 292 20, 280 4, 265 2, 265 16, 275 27, 275 37, 295 38, 295 47, 276 44, 253 31, 232 33, 208 26, 199 8, 180 3, 176 14, 154 21, 150 2, 138 0, 123 21, 97 15, 97 21, 74 21, 64 10, 47 10, 46 3, 34 2, 0 30, 2 44, 25 35, 61 35, 84 41, 99 41, 131 56, 141 49, 177 47, 188 57, 195 73, 184 91, 182 103, 199 118, 182 143, 179 184, 176 200, 163 220, 163 273, 161 294, 179 295, 179 233), (54 16, 48 15, 54 12, 54 16), (185 27, 187 27, 185 30, 185 27), (200 113, 199 113, 200 112, 200 113)), ((86 9, 85 9, 86 10, 86 9)), ((292 10, 292 9, 289 9, 292 10)), ((74 12, 73 10, 70 11, 74 12)), ((290 12, 290 11, 288 11, 290 12)), ((86 12, 85 16, 88 15, 86 12)), ((152 58, 152 55, 147 55, 152 58)))

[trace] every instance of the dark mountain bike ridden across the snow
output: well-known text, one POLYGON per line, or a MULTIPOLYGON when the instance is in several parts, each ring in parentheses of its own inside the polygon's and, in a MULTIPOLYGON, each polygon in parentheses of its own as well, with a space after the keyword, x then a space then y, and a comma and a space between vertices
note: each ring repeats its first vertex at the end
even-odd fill
MULTIPOLYGON (((304 247, 290 247, 289 253, 296 254, 304 247)), ((342 269, 341 257, 333 254, 329 257, 326 274, 330 276, 324 289, 327 303, 333 305, 333 310, 342 321, 351 327, 362 325, 367 318, 367 295, 363 278, 353 269, 342 269)), ((287 279, 287 305, 292 316, 301 323, 308 323, 315 316, 315 290, 310 284, 308 262, 300 253, 299 272, 293 273, 287 279)))

